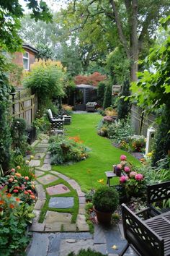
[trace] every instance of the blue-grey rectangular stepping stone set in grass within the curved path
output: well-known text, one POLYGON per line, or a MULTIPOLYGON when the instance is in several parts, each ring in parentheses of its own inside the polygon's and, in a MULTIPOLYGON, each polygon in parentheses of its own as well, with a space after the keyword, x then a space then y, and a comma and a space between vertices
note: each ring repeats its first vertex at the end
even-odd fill
POLYGON ((72 208, 73 197, 51 197, 49 202, 50 208, 72 208))

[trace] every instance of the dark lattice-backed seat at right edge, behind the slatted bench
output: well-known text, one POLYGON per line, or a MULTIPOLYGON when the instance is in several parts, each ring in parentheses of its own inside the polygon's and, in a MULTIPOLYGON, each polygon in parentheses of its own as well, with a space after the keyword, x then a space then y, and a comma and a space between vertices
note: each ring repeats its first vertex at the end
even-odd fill
POLYGON ((152 216, 169 211, 170 208, 166 207, 168 200, 170 200, 170 182, 147 186, 147 206, 151 209, 152 216))

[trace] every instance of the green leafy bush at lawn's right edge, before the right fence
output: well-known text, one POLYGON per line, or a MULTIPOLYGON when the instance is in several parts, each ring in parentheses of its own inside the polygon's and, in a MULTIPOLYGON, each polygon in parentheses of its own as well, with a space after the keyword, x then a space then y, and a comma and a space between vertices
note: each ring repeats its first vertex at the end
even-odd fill
POLYGON ((133 131, 130 127, 130 120, 118 120, 107 127, 107 135, 115 142, 125 140, 128 136, 132 135, 133 131))

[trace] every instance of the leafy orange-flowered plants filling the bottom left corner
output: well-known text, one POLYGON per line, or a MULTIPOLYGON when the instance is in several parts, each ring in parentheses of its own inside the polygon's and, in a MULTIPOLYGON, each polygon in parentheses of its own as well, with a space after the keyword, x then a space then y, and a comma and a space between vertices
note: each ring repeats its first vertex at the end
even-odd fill
POLYGON ((1 255, 23 254, 30 241, 26 233, 27 225, 35 217, 32 210, 33 207, 22 202, 19 197, 6 194, 6 188, 0 190, 1 255))

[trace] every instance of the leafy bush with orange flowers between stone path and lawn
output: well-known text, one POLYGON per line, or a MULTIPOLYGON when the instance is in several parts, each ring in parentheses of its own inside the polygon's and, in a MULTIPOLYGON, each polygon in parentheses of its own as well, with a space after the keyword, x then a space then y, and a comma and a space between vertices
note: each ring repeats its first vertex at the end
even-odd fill
POLYGON ((51 163, 62 164, 68 161, 81 161, 89 156, 88 148, 79 137, 54 136, 50 140, 51 163))

